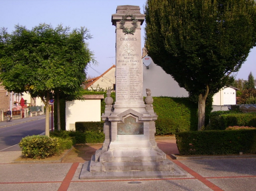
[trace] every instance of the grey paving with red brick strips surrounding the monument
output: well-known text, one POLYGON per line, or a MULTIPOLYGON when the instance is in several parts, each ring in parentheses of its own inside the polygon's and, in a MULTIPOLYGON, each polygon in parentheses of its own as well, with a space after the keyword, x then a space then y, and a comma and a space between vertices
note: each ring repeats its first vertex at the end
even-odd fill
MULTIPOLYGON (((175 139, 159 139, 157 142, 162 150, 169 147, 171 152, 177 152, 175 139)), ((168 159, 173 161, 186 177, 81 180, 79 175, 83 163, 11 163, 20 153, 0 152, 0 191, 256 190, 255 157, 174 160, 171 158, 171 152, 166 152, 168 159)))

